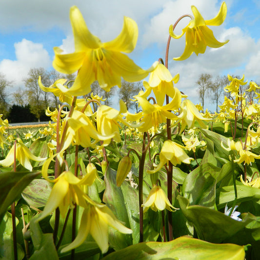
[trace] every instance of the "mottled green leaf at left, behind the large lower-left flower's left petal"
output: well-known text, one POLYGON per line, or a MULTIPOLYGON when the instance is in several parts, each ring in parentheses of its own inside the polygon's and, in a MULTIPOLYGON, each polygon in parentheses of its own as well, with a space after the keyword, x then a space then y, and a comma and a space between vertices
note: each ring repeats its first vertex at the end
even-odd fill
POLYGON ((30 205, 36 208, 44 207, 50 197, 53 183, 44 179, 32 180, 23 190, 21 196, 30 205))

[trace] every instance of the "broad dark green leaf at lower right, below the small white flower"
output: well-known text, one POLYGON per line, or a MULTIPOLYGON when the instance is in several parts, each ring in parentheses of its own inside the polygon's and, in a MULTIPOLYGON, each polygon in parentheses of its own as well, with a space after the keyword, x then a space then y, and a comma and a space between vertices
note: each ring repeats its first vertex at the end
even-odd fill
POLYGON ((234 236, 255 217, 245 213, 242 221, 233 220, 225 214, 199 205, 189 206, 189 200, 178 196, 181 211, 194 224, 198 237, 213 243, 221 243, 234 236))

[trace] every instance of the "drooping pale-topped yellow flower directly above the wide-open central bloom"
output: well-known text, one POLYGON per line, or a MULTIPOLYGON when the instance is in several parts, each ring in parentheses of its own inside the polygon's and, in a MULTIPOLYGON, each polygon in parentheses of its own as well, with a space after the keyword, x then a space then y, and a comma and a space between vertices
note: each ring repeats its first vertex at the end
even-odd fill
POLYGON ((168 95, 170 98, 175 96, 176 88, 174 88, 173 82, 177 83, 179 79, 179 74, 172 77, 169 70, 160 63, 157 68, 151 72, 148 82, 143 81, 143 86, 146 89, 152 88, 157 104, 162 106, 165 95, 168 95))

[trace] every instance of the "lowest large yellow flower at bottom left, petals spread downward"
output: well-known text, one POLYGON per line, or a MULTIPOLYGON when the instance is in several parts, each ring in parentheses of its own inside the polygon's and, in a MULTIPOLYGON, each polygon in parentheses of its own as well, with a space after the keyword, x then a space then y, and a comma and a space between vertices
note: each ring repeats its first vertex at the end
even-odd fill
POLYGON ((123 234, 132 233, 132 230, 125 227, 106 205, 99 203, 88 204, 82 213, 77 237, 71 244, 64 247, 61 253, 80 246, 90 234, 104 254, 108 250, 108 226, 123 234))

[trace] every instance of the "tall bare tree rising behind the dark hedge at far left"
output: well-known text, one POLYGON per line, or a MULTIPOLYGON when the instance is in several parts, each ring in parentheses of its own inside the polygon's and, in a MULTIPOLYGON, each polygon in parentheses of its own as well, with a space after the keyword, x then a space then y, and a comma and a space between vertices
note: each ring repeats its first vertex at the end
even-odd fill
POLYGON ((27 95, 28 103, 31 107, 31 112, 36 116, 40 122, 42 113, 45 113, 45 109, 48 107, 50 93, 44 92, 38 85, 39 76, 43 85, 48 86, 50 83, 48 78, 48 72, 44 68, 33 68, 28 72, 28 77, 23 80, 25 85, 25 94, 27 95))

